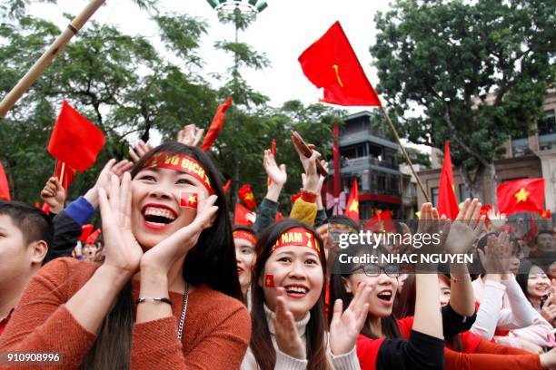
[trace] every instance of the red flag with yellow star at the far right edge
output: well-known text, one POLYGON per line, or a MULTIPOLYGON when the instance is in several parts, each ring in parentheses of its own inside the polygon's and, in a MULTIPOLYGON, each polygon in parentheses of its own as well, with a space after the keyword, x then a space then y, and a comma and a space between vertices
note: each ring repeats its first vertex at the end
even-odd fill
POLYGON ((520 212, 542 213, 544 179, 521 179, 504 182, 496 189, 497 206, 507 216, 520 212))

